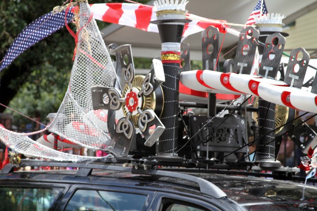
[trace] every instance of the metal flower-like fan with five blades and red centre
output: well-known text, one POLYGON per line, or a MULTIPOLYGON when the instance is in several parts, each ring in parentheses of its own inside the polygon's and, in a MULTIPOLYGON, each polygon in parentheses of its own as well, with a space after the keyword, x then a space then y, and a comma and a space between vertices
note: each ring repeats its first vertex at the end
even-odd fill
POLYGON ((154 108, 146 106, 147 98, 160 88, 165 76, 162 62, 153 59, 151 71, 140 79, 135 76, 131 46, 112 48, 112 52, 116 53, 118 81, 115 87, 93 87, 93 106, 94 109, 112 111, 123 109, 125 117, 120 118, 115 126, 109 151, 118 156, 127 156, 131 143, 136 139, 135 127, 140 129, 145 138, 144 145, 148 147, 153 146, 165 130, 154 108), (139 82, 136 83, 136 80, 139 82), (150 129, 154 125, 155 128, 150 129))

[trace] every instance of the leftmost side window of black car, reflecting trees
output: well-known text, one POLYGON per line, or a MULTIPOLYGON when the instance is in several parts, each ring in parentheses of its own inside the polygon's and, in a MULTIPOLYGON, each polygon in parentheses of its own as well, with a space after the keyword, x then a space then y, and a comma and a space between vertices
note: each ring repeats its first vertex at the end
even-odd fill
POLYGON ((1 211, 47 211, 62 188, 0 187, 1 211))

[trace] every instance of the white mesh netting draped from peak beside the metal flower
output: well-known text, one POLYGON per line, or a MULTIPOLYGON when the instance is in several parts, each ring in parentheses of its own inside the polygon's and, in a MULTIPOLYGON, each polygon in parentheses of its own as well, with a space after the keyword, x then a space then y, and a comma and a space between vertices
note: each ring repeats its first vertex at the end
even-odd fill
MULTIPOLYGON (((77 21, 78 42, 68 89, 47 128, 81 147, 106 149, 110 141, 106 124, 107 110, 93 110, 91 88, 113 87, 115 70, 88 3, 80 3, 77 21)), ((123 116, 123 112, 120 110, 116 115, 123 116)), ((58 152, 33 141, 27 135, 0 129, 3 143, 24 155, 69 161, 95 158, 58 152)))

